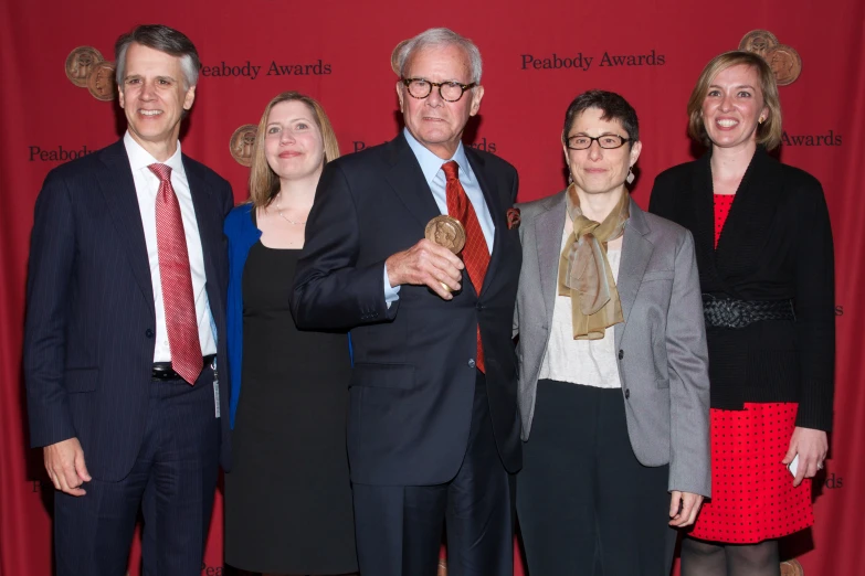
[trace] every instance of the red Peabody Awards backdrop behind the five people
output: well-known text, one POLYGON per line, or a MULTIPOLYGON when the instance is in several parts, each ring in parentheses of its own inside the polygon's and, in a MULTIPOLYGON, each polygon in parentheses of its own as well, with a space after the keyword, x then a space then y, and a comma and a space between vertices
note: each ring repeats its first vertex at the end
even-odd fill
MULTIPOLYGON (((246 196, 249 169, 231 157, 229 139, 241 125, 257 122, 264 105, 282 90, 297 89, 324 104, 344 153, 392 138, 391 50, 430 26, 453 28, 481 47, 486 96, 467 143, 517 167, 520 200, 563 188, 563 113, 573 96, 597 87, 621 93, 640 115, 644 147, 634 196, 645 206, 655 174, 696 153, 685 135, 685 105, 706 62, 736 49, 755 29, 793 46, 803 64, 801 77, 781 88, 787 135, 781 159, 817 177, 826 192, 836 241, 838 349, 835 433, 826 474, 815 483, 816 526, 787 548, 810 576, 862 574, 865 365, 857 329, 863 312, 855 300, 855 287, 865 281, 859 260, 865 203, 856 178, 865 157, 861 0, 593 6, 440 0, 434 7, 381 0, 157 0, 128 8, 107 0, 8 0, 0 11, 0 70, 7 78, 0 87, 7 135, 0 141, 0 573, 48 576, 52 570, 51 490, 43 481, 41 451, 28 448, 21 378, 33 204, 48 171, 70 152, 102 148, 124 130, 116 104, 74 86, 64 63, 82 45, 112 60, 120 33, 161 22, 188 34, 208 66, 183 151, 228 178, 239 201, 246 196), (641 55, 646 57, 621 57, 641 55)), ((222 572, 217 498, 202 574, 222 572)), ((133 574, 138 573, 137 550, 133 574)))

